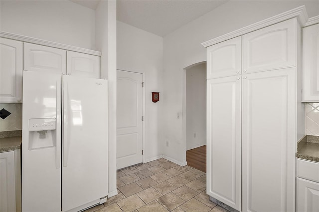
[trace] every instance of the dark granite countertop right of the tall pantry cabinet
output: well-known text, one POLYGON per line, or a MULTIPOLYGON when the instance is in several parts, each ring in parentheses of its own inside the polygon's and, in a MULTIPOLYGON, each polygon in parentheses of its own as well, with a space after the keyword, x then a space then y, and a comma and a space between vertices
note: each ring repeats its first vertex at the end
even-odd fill
POLYGON ((297 158, 319 162, 319 136, 307 135, 298 142, 297 158))

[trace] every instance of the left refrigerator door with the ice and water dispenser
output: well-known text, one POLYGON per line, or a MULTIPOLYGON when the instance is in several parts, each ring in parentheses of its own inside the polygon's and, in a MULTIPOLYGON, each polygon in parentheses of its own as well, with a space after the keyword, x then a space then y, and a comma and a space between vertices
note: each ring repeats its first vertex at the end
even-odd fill
POLYGON ((61 210, 61 76, 23 72, 22 211, 61 210), (34 118, 55 120, 51 130, 29 131, 34 118))

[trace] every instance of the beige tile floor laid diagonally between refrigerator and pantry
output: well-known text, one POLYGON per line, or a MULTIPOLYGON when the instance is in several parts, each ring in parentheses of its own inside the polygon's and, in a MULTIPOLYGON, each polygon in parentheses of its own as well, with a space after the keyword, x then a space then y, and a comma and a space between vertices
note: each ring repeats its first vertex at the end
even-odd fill
POLYGON ((117 188, 85 212, 227 212, 209 201, 206 173, 163 158, 117 171, 117 188))

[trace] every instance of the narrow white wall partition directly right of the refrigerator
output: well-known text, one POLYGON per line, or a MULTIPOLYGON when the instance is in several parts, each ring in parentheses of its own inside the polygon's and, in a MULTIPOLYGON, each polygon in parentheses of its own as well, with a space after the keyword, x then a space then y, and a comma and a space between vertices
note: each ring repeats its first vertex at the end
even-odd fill
MULTIPOLYGON (((101 78, 108 80, 108 197, 116 187, 116 1, 101 0, 96 8, 96 50, 101 51, 101 78)), ((107 95, 107 94, 106 94, 107 95)))

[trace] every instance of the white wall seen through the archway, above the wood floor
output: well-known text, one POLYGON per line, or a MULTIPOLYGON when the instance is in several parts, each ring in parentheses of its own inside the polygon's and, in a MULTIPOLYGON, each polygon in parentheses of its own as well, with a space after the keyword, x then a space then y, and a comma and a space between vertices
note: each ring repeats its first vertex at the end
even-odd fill
POLYGON ((206 63, 186 69, 186 150, 206 145, 206 63))

